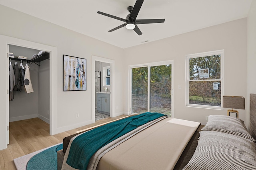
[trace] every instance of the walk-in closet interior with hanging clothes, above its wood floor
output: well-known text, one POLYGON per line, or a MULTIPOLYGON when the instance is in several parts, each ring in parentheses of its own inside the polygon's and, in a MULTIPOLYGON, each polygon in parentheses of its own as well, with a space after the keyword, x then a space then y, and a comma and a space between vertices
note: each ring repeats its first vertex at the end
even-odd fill
POLYGON ((9 74, 9 83, 12 84, 11 77, 16 79, 14 88, 9 86, 9 121, 38 117, 50 124, 50 53, 17 45, 8 46, 10 70, 14 69, 14 74, 9 74), (28 74, 30 80, 25 78, 24 82, 24 75, 28 74))

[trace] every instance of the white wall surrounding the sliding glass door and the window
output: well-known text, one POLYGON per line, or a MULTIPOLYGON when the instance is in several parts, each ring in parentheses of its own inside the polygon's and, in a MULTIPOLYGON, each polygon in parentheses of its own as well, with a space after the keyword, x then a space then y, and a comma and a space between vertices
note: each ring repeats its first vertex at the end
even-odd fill
MULTIPOLYGON (((124 75, 128 75, 129 65, 174 60, 174 117, 206 124, 206 116, 227 115, 227 109, 185 106, 185 56, 224 49, 224 95, 246 97, 246 44, 244 18, 124 49, 124 68, 127 68, 124 75), (181 90, 178 90, 179 84, 181 90)), ((124 81, 124 89, 128 89, 128 78, 124 81)), ((128 90, 124 94, 125 104, 127 99, 128 90)), ((128 112, 128 105, 124 106, 124 111, 128 112)), ((245 110, 238 111, 239 118, 245 120, 245 110)))

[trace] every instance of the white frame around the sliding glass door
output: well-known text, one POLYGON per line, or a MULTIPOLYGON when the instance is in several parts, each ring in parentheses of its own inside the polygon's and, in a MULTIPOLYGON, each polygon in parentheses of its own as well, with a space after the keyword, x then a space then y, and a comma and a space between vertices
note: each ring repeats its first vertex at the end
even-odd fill
MULTIPOLYGON (((168 60, 168 61, 159 61, 159 62, 154 62, 154 63, 145 63, 145 64, 136 64, 136 65, 130 65, 129 66, 129 80, 128 80, 128 84, 129 84, 129 94, 128 94, 128 108, 130 108, 128 115, 133 114, 132 113, 132 68, 138 68, 138 67, 148 67, 148 80, 150 80, 150 67, 151 66, 160 66, 160 65, 166 65, 166 64, 171 64, 172 65, 172 91, 171 91, 171 96, 172 96, 172 100, 171 100, 171 106, 172 106, 172 117, 174 117, 174 92, 173 92, 173 82, 174 82, 174 61, 173 60, 168 60)), ((150 87, 150 82, 148 81, 148 88, 150 87)), ((150 90, 148 90, 148 101, 150 101, 150 90)), ((150 102, 148 102, 148 111, 150 110, 150 102)))

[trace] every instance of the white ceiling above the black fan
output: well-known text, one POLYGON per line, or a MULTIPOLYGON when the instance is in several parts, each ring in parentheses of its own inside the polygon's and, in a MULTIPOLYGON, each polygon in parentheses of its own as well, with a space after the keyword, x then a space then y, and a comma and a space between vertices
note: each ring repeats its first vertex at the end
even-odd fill
POLYGON ((156 41, 227 21, 245 18, 252 0, 144 0, 137 20, 161 19, 164 23, 138 25, 142 35, 122 27, 124 22, 97 11, 125 18, 128 6, 136 0, 0 0, 0 4, 88 35, 112 45, 127 48, 156 41))

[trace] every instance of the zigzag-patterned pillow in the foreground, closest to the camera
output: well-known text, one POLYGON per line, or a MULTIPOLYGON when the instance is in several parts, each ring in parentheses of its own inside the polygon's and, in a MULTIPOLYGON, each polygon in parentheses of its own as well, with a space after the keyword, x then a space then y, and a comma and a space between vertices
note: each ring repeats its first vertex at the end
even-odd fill
POLYGON ((198 146, 183 170, 241 169, 256 169, 256 143, 227 133, 201 131, 198 146))

